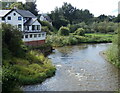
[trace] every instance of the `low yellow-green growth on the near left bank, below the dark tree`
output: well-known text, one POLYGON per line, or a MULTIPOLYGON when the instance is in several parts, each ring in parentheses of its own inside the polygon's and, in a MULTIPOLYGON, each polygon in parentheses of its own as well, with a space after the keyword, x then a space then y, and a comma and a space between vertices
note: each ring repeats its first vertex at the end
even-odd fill
POLYGON ((55 73, 51 61, 37 51, 29 51, 24 59, 12 57, 3 63, 3 91, 12 90, 12 84, 20 86, 41 83, 55 73))

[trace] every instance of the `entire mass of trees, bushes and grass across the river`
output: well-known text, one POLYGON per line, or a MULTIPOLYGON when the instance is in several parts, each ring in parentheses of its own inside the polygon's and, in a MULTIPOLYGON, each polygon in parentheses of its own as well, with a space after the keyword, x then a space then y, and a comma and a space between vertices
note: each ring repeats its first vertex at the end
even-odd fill
POLYGON ((112 37, 118 33, 119 16, 94 17, 89 10, 80 10, 68 3, 64 3, 60 8, 56 7, 48 15, 54 29, 49 29, 47 42, 52 46, 110 43, 112 37))

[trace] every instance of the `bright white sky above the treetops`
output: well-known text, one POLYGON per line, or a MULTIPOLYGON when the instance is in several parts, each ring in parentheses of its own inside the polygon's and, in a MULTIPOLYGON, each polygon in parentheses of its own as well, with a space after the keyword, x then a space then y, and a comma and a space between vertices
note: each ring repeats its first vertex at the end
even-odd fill
POLYGON ((120 0, 37 0, 36 4, 40 13, 50 12, 54 10, 56 6, 61 7, 63 2, 68 2, 76 8, 88 9, 95 16, 99 16, 101 14, 117 15, 119 1, 120 0))

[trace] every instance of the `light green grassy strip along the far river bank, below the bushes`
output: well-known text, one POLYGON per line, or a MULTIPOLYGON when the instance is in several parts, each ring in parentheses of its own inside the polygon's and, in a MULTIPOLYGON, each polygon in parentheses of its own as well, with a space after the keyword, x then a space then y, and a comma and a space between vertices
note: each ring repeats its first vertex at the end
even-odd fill
POLYGON ((60 36, 57 34, 48 35, 47 43, 52 46, 76 45, 79 43, 110 43, 112 42, 112 34, 85 34, 85 36, 73 35, 60 36))

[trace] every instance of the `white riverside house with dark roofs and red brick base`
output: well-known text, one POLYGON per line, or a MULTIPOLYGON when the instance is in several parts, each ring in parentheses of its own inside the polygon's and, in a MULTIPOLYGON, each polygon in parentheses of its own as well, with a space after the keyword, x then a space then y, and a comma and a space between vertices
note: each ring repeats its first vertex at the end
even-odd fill
POLYGON ((27 45, 40 45, 45 43, 46 33, 41 31, 41 24, 37 17, 26 10, 0 10, 0 23, 16 26, 22 31, 22 40, 27 45))

